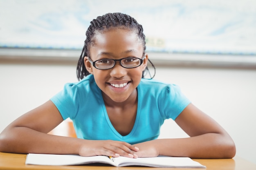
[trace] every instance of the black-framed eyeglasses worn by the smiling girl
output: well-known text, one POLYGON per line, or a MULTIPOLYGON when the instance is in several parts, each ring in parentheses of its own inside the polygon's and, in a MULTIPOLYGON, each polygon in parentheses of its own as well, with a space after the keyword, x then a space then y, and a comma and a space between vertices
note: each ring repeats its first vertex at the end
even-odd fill
POLYGON ((88 57, 89 62, 97 69, 100 70, 107 70, 110 68, 113 68, 118 61, 120 65, 124 68, 135 68, 140 66, 143 63, 143 60, 145 58, 145 53, 143 53, 142 58, 137 58, 137 57, 127 57, 127 58, 121 58, 119 60, 115 59, 102 59, 102 60, 96 60, 92 61, 90 57, 88 57))

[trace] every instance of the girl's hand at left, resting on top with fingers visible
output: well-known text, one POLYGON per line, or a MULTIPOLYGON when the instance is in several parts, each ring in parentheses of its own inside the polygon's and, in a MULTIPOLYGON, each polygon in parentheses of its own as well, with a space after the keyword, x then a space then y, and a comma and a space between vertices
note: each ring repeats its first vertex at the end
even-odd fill
POLYGON ((79 149, 79 155, 84 157, 106 155, 111 157, 130 157, 137 158, 135 154, 139 148, 122 141, 112 140, 84 140, 85 142, 79 149))

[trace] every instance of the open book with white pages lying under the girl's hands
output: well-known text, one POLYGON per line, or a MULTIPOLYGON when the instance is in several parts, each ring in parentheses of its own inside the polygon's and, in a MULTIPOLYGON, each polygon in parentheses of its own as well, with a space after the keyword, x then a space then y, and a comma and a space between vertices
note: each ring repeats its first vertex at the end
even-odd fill
POLYGON ((26 164, 33 165, 84 165, 88 163, 105 163, 112 166, 149 166, 163 168, 206 168, 189 157, 149 157, 149 158, 128 158, 116 157, 110 159, 107 156, 82 157, 79 155, 52 155, 52 154, 31 154, 27 155, 26 164))

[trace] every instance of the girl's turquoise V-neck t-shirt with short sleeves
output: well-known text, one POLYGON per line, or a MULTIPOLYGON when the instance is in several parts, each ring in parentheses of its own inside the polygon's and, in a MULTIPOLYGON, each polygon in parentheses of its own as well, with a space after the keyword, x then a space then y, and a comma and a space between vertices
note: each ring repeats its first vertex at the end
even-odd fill
POLYGON ((175 120, 190 103, 178 86, 153 79, 141 79, 137 92, 136 120, 126 136, 120 135, 112 126, 93 75, 76 83, 65 84, 63 91, 52 97, 51 101, 63 119, 72 119, 78 138, 111 139, 130 144, 157 139, 164 120, 175 120))

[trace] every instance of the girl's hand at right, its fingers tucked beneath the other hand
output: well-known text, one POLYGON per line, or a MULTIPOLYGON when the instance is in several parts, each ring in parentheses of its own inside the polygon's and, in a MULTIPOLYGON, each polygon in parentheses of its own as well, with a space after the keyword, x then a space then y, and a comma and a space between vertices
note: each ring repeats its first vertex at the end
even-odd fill
POLYGON ((157 157, 159 152, 157 150, 157 143, 154 144, 156 140, 146 141, 139 144, 135 144, 139 150, 135 152, 138 157, 157 157))

